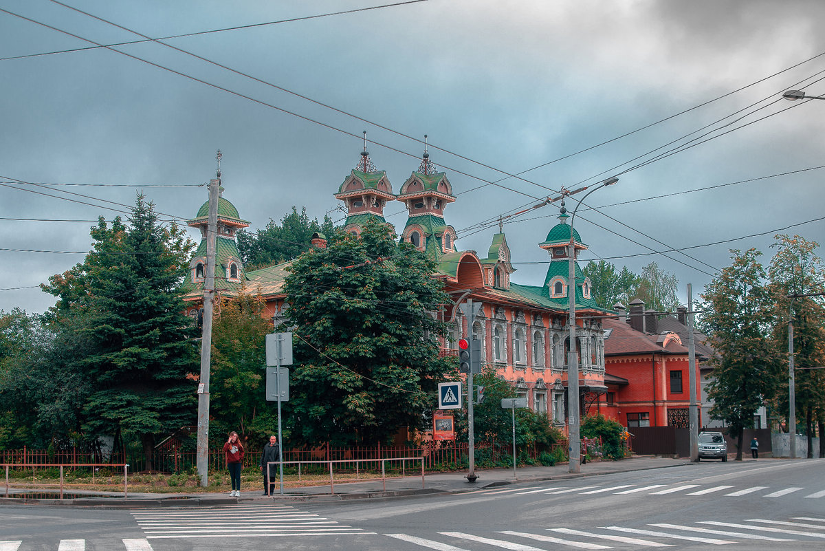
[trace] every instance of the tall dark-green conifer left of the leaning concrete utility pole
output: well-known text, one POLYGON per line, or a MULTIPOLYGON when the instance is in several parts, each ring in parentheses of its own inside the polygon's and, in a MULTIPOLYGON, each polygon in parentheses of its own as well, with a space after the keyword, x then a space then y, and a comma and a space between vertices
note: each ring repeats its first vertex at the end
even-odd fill
POLYGON ((183 314, 180 283, 194 247, 177 224, 162 224, 138 195, 125 224, 101 217, 85 261, 50 278, 55 323, 83 342, 73 365, 87 381, 83 431, 134 438, 152 469, 155 437, 193 424, 196 337, 183 314), (68 318, 83 323, 67 326, 68 318))

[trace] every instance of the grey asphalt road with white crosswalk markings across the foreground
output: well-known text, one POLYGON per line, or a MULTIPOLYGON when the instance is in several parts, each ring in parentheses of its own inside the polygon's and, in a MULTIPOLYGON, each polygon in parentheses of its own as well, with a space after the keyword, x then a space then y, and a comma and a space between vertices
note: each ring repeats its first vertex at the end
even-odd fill
POLYGON ((393 500, 0 507, 0 551, 825 549, 825 462, 691 464, 393 500))

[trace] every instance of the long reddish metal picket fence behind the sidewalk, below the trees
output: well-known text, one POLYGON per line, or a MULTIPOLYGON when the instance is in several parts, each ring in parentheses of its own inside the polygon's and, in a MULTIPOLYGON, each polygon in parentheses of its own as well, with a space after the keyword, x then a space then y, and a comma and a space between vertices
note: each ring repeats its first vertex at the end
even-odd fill
MULTIPOLYGON (((530 447, 524 450, 527 457, 538 459, 542 451, 552 451, 559 448, 566 456, 568 444, 566 441, 556 443, 550 450, 537 450, 530 447)), ((519 452, 522 453, 521 451, 519 452)), ((397 459, 403 457, 423 457, 424 468, 427 470, 460 469, 467 463, 468 445, 454 443, 449 440, 422 446, 375 446, 369 448, 332 448, 328 445, 307 448, 284 450, 284 461, 342 461, 351 459, 397 459)), ((476 443, 475 462, 477 465, 495 465, 507 462, 512 464, 511 445, 490 445, 476 443)), ((243 466, 254 469, 260 464, 261 449, 252 450, 247 446, 247 453, 243 458, 243 466)), ((147 462, 140 451, 117 452, 106 454, 101 458, 99 454, 83 453, 78 450, 0 450, 0 464, 89 464, 108 463, 112 465, 129 464, 132 473, 144 472, 147 462)), ((163 473, 179 473, 195 469, 196 450, 155 450, 153 454, 152 470, 163 473)), ((226 469, 226 459, 222 450, 209 452, 209 468, 211 471, 226 469)))

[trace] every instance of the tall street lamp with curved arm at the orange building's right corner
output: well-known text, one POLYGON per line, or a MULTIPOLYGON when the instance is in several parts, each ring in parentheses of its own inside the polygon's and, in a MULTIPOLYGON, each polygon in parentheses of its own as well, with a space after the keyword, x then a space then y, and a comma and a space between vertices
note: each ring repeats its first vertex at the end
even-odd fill
POLYGON ((602 187, 612 186, 619 178, 612 177, 602 181, 578 201, 578 205, 573 209, 573 216, 570 217, 570 244, 568 245, 568 323, 570 323, 570 350, 568 351, 568 440, 570 443, 570 472, 581 472, 581 442, 579 441, 578 422, 578 358, 576 357, 576 238, 573 237, 573 220, 576 219, 576 211, 587 195, 593 191, 601 190, 602 187))

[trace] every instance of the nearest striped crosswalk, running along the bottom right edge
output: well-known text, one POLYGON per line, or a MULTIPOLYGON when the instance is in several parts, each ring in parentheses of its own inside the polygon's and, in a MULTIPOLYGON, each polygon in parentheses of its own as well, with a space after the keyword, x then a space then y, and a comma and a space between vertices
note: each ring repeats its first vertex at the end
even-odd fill
POLYGON ((799 546, 803 542, 825 539, 825 517, 800 516, 790 520, 748 519, 742 522, 703 520, 695 525, 656 523, 643 527, 601 526, 588 530, 551 527, 532 532, 499 530, 483 535, 436 532, 426 538, 408 534, 385 536, 412 544, 412 547, 403 549, 422 547, 438 551, 549 551, 560 549, 559 546, 563 549, 647 549, 678 547, 685 544, 747 544, 755 541, 777 544, 797 542, 795 545, 799 546), (479 544, 485 547, 481 548, 479 544))

